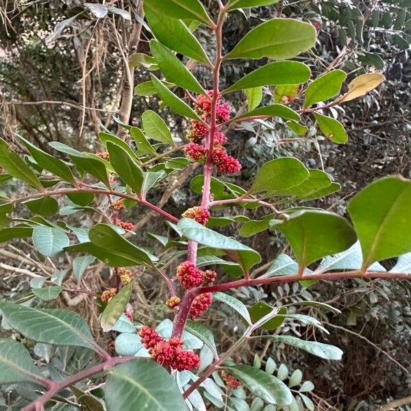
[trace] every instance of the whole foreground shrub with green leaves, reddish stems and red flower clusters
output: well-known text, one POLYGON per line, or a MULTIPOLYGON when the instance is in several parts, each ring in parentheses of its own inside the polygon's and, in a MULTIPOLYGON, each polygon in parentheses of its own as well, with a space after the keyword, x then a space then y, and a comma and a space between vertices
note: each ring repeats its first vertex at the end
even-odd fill
MULTIPOLYGON (((338 214, 300 205, 336 192, 340 185, 322 170, 307 169, 296 158, 267 162, 245 187, 225 182, 227 175, 240 173, 242 167, 242 159, 230 153, 227 131, 235 123, 275 119, 302 135, 307 131, 304 119, 314 116, 321 134, 343 144, 347 132, 328 109, 364 95, 384 79, 379 73, 360 75, 345 92, 341 88, 346 73, 332 66, 310 79, 309 66, 296 58, 314 47, 316 29, 297 19, 265 21, 223 53, 227 14, 275 2, 229 0, 223 4, 219 0, 219 13, 213 20, 198 0, 145 0, 145 16, 153 33, 151 56, 134 55, 132 60, 143 61, 155 75, 150 82, 138 84, 136 92, 158 95, 164 106, 184 117, 184 142, 151 110, 142 114, 143 131, 123 125, 129 133, 125 140, 101 132, 104 150, 99 153, 51 143, 66 161, 18 137, 28 151, 22 158, 1 140, 0 182, 14 177, 29 187, 28 194, 19 198, 3 192, 1 242, 32 238, 42 256, 74 255, 77 279, 97 258, 113 268, 116 279, 95 301, 103 308, 103 331, 116 335, 115 356, 97 345, 86 321, 76 312, 41 308, 41 301, 51 301, 65 289, 67 271, 36 277, 27 298, 0 302, 3 328, 15 330, 14 336, 23 336, 26 343, 34 340, 34 351, 42 352, 38 355, 43 360, 34 362, 23 343, 12 338, 0 340, 0 383, 14 384, 11 388, 21 396, 15 405, 19 409, 248 410, 245 398, 250 397, 253 410, 314 409, 304 394, 312 390, 312 384, 301 384, 301 371, 288 376, 287 367, 282 364, 277 370, 272 359, 262 369, 258 357, 253 366, 236 364, 233 354, 253 338, 291 345, 325 360, 340 360, 343 351, 319 342, 321 336, 303 340, 281 332, 273 334, 273 329, 280 331, 288 321, 327 330, 311 316, 272 308, 263 301, 247 308, 230 290, 288 282, 308 286, 319 280, 355 277, 411 278, 411 182, 407 179, 385 177, 358 192, 348 206, 352 224, 338 214), (213 55, 195 38, 199 26, 214 33, 213 55), (205 66, 212 82, 202 85, 187 68, 195 64, 185 65, 186 59, 205 66), (221 66, 234 59, 239 64, 246 59, 262 64, 221 90, 221 66), (267 86, 275 86, 273 101, 262 105, 267 86), (234 92, 247 96, 248 111, 236 112, 229 102, 234 92), (179 157, 175 157, 177 152, 179 157), (197 206, 173 216, 153 205, 150 192, 190 162, 203 167, 190 186, 199 195, 197 206), (290 208, 290 203, 298 207, 290 208), (32 218, 18 219, 22 204, 35 214, 32 218), (166 251, 139 247, 142 234, 135 235, 137 222, 121 220, 123 208, 136 205, 158 213, 169 225, 174 233, 171 240, 161 233, 150 234, 166 251), (249 219, 256 208, 266 210, 264 219, 249 219), (84 228, 50 219, 59 211, 64 216, 90 209, 98 210, 106 222, 84 228), (219 210, 224 210, 224 216, 219 210), (238 210, 247 216, 238 215, 238 210), (253 271, 261 263, 258 251, 210 228, 223 225, 240 226, 240 236, 279 230, 290 243, 295 260, 281 254, 261 275, 262 270, 253 271), (399 258, 392 271, 379 264, 395 257, 399 258), (162 319, 155 328, 158 319, 154 315, 147 321, 129 310, 127 303, 143 273, 165 282, 169 297, 164 304, 173 321, 162 319), (232 279, 227 281, 227 275, 232 279), (212 330, 201 323, 213 300, 227 304, 238 315, 238 323, 246 324, 244 335, 225 352, 220 351, 212 330), (60 360, 49 363, 43 351, 53 347, 60 349, 60 360), (98 378, 95 386, 90 385, 92 378, 98 378), (103 392, 96 388, 101 383, 103 392)), ((315 301, 302 301, 301 305, 333 310, 315 301)))

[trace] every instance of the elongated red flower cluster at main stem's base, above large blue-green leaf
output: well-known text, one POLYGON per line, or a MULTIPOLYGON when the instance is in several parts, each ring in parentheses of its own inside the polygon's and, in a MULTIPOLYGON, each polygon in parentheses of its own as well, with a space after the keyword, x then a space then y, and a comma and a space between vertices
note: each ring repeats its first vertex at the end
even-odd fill
POLYGON ((199 367, 200 359, 192 351, 183 349, 181 338, 164 340, 154 329, 146 325, 138 333, 141 342, 150 351, 151 357, 162 366, 171 366, 178 371, 192 370, 199 367))

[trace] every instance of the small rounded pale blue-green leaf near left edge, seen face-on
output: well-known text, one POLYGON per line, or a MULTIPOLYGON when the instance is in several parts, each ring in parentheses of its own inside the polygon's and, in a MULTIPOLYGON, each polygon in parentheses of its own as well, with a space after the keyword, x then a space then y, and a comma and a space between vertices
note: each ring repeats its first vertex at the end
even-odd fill
POLYGON ((38 225, 33 229, 33 244, 43 256, 52 257, 63 251, 70 240, 61 228, 38 225))

